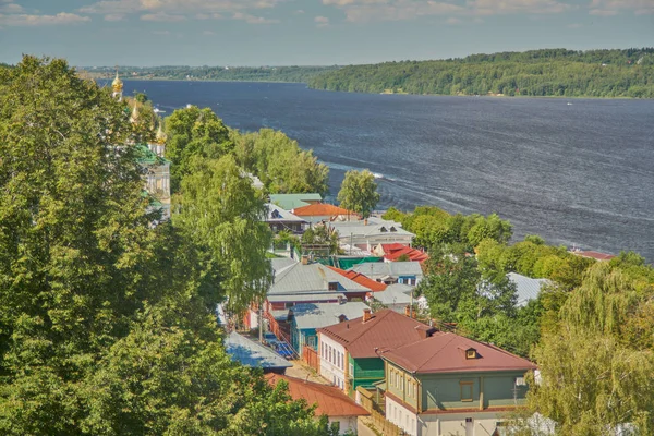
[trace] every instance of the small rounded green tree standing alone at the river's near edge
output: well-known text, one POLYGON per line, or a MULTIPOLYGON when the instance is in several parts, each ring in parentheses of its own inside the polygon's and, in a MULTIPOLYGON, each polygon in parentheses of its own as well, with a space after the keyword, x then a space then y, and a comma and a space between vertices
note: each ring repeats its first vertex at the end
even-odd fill
POLYGON ((364 218, 370 217, 379 202, 375 177, 368 170, 346 172, 337 198, 341 207, 354 210, 364 218))

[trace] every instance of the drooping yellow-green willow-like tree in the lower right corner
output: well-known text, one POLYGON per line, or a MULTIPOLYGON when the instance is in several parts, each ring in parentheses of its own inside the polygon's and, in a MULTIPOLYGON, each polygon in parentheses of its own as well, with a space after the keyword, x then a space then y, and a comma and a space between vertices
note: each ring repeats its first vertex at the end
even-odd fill
POLYGON ((532 384, 530 410, 557 422, 561 435, 604 435, 625 424, 651 434, 654 350, 638 341, 651 325, 649 334, 629 326, 653 296, 606 263, 591 267, 535 350, 542 382, 532 384))

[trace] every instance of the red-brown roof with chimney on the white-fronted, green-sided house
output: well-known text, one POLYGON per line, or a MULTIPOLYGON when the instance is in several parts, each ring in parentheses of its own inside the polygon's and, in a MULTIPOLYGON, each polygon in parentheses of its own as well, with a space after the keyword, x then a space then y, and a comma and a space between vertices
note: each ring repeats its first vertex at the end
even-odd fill
MULTIPOLYGON (((375 350, 389 350, 421 339, 419 329, 428 326, 389 308, 318 329, 342 344, 354 359, 377 358, 375 350)), ((422 336, 424 337, 424 336, 422 336)))

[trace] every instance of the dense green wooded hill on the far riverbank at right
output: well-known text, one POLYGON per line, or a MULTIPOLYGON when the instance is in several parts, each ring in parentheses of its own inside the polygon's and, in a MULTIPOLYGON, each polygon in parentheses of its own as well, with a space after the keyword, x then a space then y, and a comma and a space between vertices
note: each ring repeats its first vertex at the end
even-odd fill
POLYGON ((544 49, 350 65, 308 84, 359 93, 654 98, 654 48, 544 49))

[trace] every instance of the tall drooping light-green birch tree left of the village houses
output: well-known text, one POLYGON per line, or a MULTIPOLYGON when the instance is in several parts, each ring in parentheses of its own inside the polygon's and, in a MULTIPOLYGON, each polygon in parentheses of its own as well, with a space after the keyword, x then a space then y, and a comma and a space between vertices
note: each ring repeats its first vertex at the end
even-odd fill
POLYGON ((173 222, 217 263, 230 308, 244 310, 271 283, 266 252, 272 234, 264 221, 264 199, 231 155, 194 156, 189 168, 173 222))

